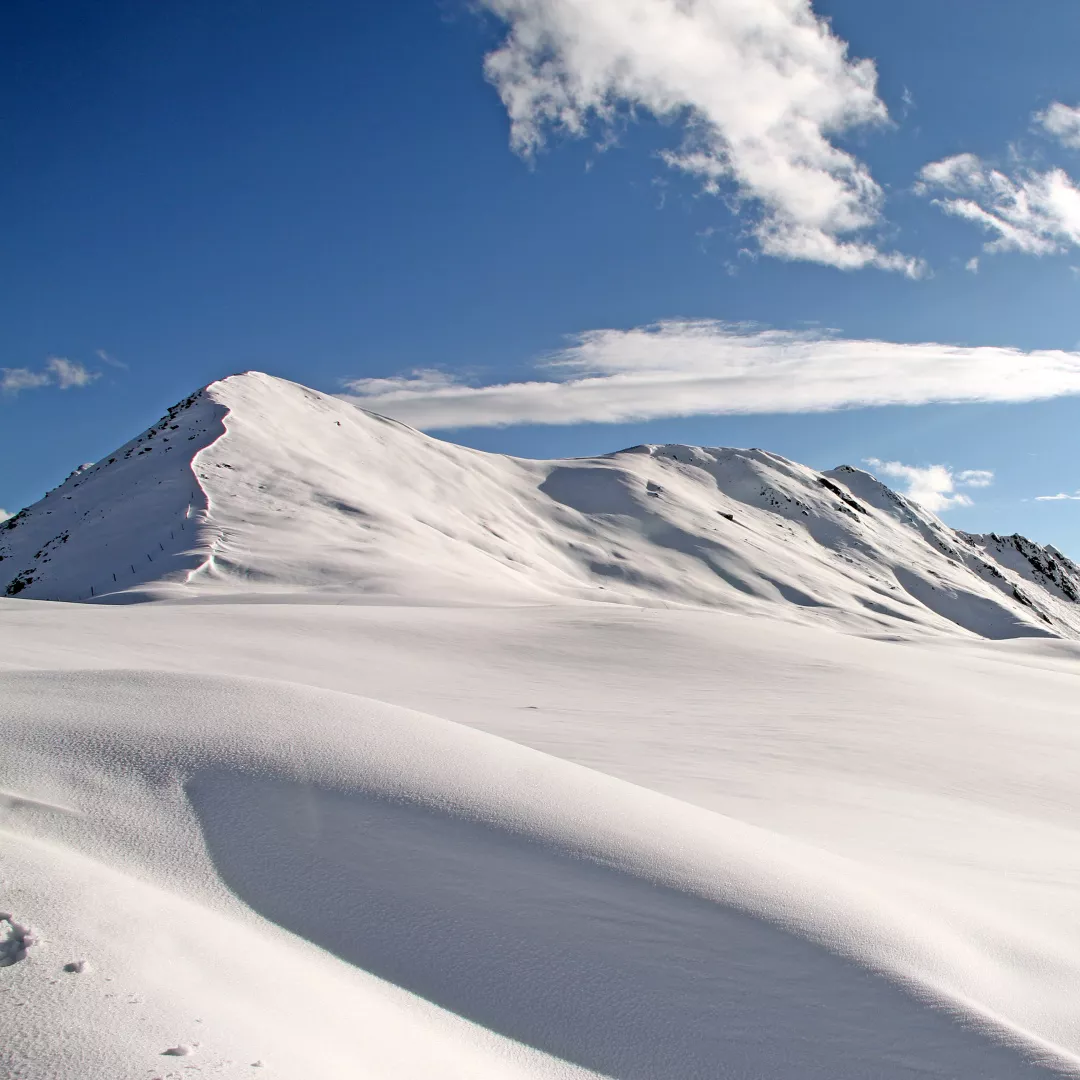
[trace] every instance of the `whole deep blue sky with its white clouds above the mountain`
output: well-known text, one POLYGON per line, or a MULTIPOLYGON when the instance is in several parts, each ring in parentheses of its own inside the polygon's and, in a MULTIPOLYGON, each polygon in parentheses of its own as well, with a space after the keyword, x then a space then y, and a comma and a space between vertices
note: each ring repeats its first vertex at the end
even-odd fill
POLYGON ((1080 488, 1075 0, 6 29, 0 508, 254 367, 484 449, 875 459, 1080 556, 1080 501, 1040 499, 1080 488))

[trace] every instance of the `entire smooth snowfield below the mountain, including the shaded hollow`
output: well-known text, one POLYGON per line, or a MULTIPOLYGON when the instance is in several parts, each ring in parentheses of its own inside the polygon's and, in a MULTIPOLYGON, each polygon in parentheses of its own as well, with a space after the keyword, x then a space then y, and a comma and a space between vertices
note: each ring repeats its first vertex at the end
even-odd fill
POLYGON ((1080 1072, 1072 643, 566 604, 0 633, 0 1072, 1080 1072))

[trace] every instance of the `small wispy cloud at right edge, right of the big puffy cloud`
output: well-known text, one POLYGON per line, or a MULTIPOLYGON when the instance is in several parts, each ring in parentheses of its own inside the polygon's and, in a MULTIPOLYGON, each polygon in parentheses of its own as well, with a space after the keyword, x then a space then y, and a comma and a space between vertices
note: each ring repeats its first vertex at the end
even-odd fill
POLYGON ((1051 255, 1080 246, 1080 188, 1064 170, 1007 176, 973 153, 958 153, 923 166, 916 190, 947 192, 935 205, 995 233, 987 252, 1051 255))

